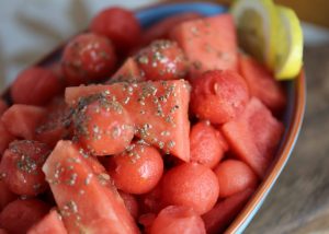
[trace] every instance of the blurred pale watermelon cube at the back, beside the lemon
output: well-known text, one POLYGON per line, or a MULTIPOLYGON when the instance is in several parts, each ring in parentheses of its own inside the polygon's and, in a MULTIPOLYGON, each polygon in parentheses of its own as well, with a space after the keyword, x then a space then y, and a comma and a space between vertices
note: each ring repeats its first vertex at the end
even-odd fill
POLYGON ((237 70, 238 46, 232 16, 220 14, 182 23, 171 38, 183 48, 191 62, 191 79, 207 70, 237 70))

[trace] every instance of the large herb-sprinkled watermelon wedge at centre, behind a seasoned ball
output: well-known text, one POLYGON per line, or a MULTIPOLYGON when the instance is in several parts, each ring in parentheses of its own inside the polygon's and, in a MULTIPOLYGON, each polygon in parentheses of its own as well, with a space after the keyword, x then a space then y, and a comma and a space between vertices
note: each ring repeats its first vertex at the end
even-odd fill
MULTIPOLYGON (((166 153, 190 161, 190 85, 184 80, 67 87, 66 102, 83 103, 93 94, 115 100, 131 115, 137 136, 166 153)), ((79 105, 79 104, 78 104, 79 105)))

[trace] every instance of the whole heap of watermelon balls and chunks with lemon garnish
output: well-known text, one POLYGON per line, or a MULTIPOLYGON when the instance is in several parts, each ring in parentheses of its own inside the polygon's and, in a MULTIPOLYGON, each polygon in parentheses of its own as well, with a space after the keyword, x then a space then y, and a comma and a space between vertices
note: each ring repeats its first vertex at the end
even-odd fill
POLYGON ((101 11, 0 100, 0 233, 224 232, 283 137, 298 28, 270 0, 147 28, 101 11))

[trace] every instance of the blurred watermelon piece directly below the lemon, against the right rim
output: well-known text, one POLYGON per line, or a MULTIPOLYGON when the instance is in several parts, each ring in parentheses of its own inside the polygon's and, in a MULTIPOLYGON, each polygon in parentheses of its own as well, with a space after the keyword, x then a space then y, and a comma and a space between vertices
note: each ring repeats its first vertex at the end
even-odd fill
POLYGON ((240 73, 251 95, 262 101, 273 113, 282 112, 286 105, 286 94, 273 72, 249 56, 240 55, 239 58, 240 73))

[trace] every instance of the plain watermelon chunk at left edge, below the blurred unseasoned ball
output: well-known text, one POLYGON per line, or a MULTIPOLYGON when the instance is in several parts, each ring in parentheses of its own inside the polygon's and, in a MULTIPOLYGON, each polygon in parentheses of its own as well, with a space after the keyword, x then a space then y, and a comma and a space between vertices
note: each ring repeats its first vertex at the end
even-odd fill
POLYGON ((35 136, 35 128, 46 114, 43 107, 15 104, 2 115, 1 120, 11 134, 32 140, 35 136))

